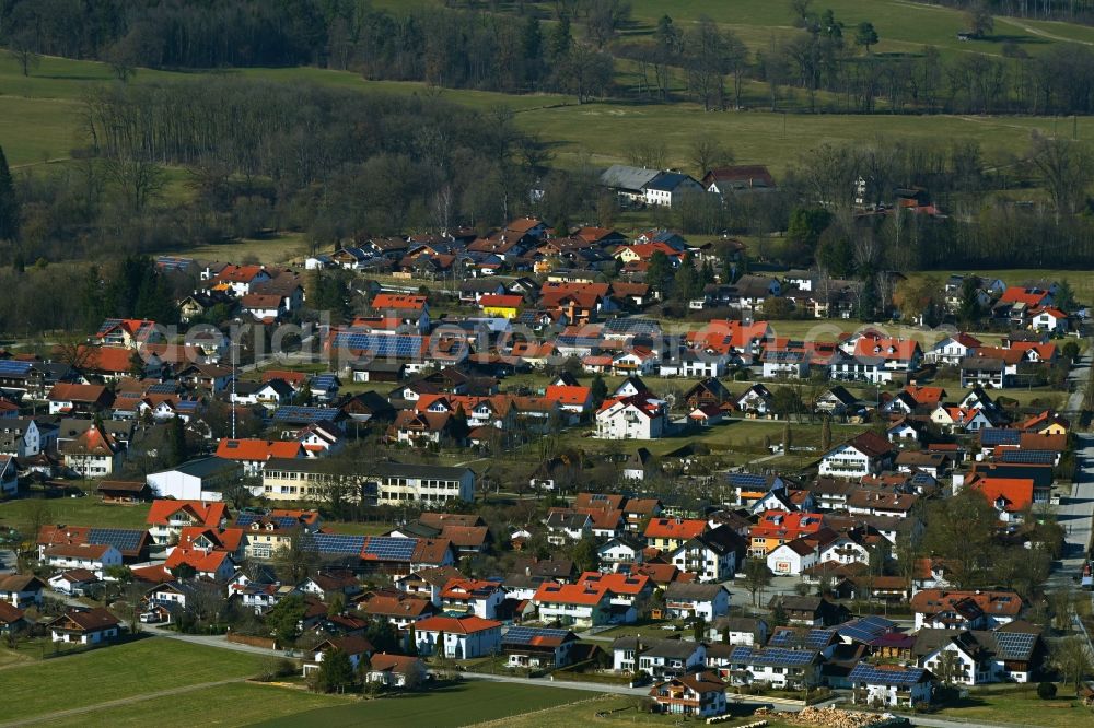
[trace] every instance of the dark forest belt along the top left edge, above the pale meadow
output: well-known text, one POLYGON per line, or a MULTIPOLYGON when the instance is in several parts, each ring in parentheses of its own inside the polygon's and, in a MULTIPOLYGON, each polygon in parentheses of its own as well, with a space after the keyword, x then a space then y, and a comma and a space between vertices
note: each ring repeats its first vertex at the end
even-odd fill
POLYGON ((361 0, 14 0, 0 4, 0 43, 24 73, 35 55, 50 54, 107 61, 121 80, 136 67, 318 66, 369 79, 558 91, 585 101, 607 93, 614 74, 610 56, 575 40, 569 16, 545 33, 533 15, 393 13, 361 0))

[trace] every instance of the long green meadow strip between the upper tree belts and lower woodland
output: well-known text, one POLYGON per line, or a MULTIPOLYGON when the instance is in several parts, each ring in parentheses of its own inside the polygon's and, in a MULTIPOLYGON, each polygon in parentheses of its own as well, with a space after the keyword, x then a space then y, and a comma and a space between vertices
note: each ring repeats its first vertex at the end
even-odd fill
MULTIPOLYGON (((715 137, 730 146, 742 164, 769 165, 781 174, 802 152, 816 144, 863 142, 877 137, 910 142, 938 142, 956 138, 984 143, 990 160, 1000 152, 1021 152, 1029 132, 1051 132, 1058 121, 1050 118, 953 117, 953 116, 843 116, 794 115, 769 111, 706 113, 696 104, 671 106, 637 103, 573 103, 556 95, 507 96, 504 94, 430 90, 412 82, 364 81, 356 73, 314 68, 246 69, 232 71, 253 78, 284 82, 311 81, 333 86, 383 91, 398 94, 437 93, 441 98, 487 109, 504 105, 517 111, 517 126, 540 133, 552 142, 558 164, 574 165, 589 160, 607 165, 627 161, 635 139, 656 130, 666 146, 671 165, 685 165, 690 144, 699 137, 715 137)), ((201 74, 140 70, 133 83, 166 78, 200 79, 201 74)), ((24 79, 14 61, 0 56, 0 144, 9 162, 39 164, 66 158, 79 139, 79 98, 94 83, 109 82, 107 69, 93 61, 45 58, 30 79, 24 79)), ((1079 136, 1094 138, 1094 119, 1079 120, 1079 136)))

